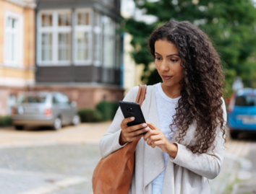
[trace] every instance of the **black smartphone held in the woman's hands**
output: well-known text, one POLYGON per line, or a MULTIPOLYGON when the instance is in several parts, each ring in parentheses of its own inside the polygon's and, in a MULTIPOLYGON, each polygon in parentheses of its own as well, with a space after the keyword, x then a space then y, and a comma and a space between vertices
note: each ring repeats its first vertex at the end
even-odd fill
MULTIPOLYGON (((139 103, 119 101, 119 105, 121 108, 121 112, 124 115, 124 118, 135 117, 135 120, 132 120, 131 122, 127 123, 128 126, 146 123, 139 103)), ((141 134, 145 135, 145 133, 141 134)))

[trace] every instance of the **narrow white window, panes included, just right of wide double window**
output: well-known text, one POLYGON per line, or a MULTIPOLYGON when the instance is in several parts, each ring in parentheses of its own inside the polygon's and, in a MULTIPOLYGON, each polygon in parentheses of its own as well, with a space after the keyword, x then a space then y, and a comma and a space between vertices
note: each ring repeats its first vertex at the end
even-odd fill
POLYGON ((92 42, 91 9, 77 9, 75 12, 74 32, 74 64, 89 65, 92 57, 90 50, 92 42))

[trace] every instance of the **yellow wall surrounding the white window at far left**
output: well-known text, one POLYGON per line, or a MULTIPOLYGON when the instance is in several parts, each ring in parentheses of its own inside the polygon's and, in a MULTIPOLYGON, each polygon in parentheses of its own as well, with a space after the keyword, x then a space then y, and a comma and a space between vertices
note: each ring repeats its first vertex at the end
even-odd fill
POLYGON ((31 8, 18 6, 9 1, 0 0, 0 79, 1 77, 17 79, 34 79, 33 70, 27 67, 35 66, 35 11, 31 8), (24 19, 23 37, 23 67, 10 68, 4 66, 4 14, 6 11, 22 14, 24 19))

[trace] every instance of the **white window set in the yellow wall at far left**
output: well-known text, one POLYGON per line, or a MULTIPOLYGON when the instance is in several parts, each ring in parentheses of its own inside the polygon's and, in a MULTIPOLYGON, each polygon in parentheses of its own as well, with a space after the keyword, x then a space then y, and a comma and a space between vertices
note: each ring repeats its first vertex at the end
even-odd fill
POLYGON ((8 66, 23 64, 23 20, 22 15, 5 12, 4 63, 8 66))

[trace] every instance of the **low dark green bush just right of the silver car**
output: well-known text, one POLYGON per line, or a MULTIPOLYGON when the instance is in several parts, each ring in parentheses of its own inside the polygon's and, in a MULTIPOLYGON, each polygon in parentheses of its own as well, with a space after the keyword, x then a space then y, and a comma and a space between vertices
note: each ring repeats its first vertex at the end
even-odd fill
POLYGON ((92 110, 90 108, 79 110, 78 115, 80 115, 80 120, 82 123, 103 121, 103 115, 101 112, 98 110, 92 110))

